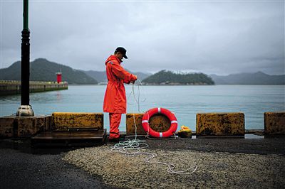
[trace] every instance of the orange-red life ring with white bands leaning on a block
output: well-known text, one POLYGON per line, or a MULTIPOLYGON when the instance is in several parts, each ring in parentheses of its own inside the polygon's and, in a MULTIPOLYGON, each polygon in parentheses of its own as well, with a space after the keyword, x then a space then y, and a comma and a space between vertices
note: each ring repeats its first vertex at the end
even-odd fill
POLYGON ((175 131, 177 130, 177 119, 175 117, 175 114, 170 112, 168 109, 162 108, 162 107, 156 107, 149 109, 142 117, 142 128, 150 134, 150 136, 153 136, 155 138, 167 138, 173 135, 175 131), (155 114, 163 114, 168 119, 170 119, 171 125, 170 129, 164 132, 157 132, 150 128, 148 121, 150 120, 150 117, 152 117, 155 114))

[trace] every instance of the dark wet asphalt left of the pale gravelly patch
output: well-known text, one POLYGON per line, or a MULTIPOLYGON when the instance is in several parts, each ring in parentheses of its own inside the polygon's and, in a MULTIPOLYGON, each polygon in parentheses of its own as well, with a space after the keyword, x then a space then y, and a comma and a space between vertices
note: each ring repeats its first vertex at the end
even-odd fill
POLYGON ((62 161, 62 154, 74 149, 0 140, 0 188, 110 188, 100 176, 62 161))

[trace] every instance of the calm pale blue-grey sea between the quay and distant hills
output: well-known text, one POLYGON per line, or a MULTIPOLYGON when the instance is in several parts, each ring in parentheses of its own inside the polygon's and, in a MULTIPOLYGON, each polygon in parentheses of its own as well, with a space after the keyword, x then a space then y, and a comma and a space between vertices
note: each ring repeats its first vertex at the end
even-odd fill
MULTIPOLYGON (((68 90, 30 94, 35 114, 103 112, 103 85, 70 85, 68 90)), ((126 85, 127 112, 139 112, 132 85, 126 85)), ((179 126, 195 129, 197 112, 244 112, 246 129, 264 129, 264 112, 285 111, 285 85, 138 86, 134 87, 140 112, 164 107, 175 112, 179 126), (139 90, 138 90, 139 89, 139 90)), ((20 95, 0 97, 0 116, 16 112, 20 95)), ((108 113, 104 126, 109 129, 108 113)), ((120 124, 125 131, 125 114, 120 124)))

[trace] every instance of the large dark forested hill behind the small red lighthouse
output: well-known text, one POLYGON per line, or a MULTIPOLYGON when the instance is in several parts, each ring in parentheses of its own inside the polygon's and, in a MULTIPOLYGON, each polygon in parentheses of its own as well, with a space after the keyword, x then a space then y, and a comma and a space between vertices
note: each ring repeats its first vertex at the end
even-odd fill
MULTIPOLYGON (((98 82, 85 72, 74 70, 66 65, 38 58, 31 62, 31 81, 56 81, 56 72, 61 70, 62 80, 69 84, 97 84, 98 82)), ((12 64, 9 68, 0 69, 0 80, 21 80, 21 62, 12 64)))

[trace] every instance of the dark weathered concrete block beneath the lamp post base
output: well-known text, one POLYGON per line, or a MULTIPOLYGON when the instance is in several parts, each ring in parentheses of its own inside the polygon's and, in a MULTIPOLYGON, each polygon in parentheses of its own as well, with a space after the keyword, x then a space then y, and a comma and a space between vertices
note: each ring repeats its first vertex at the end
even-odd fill
POLYGON ((38 131, 51 129, 51 116, 0 117, 1 137, 30 137, 38 131))

